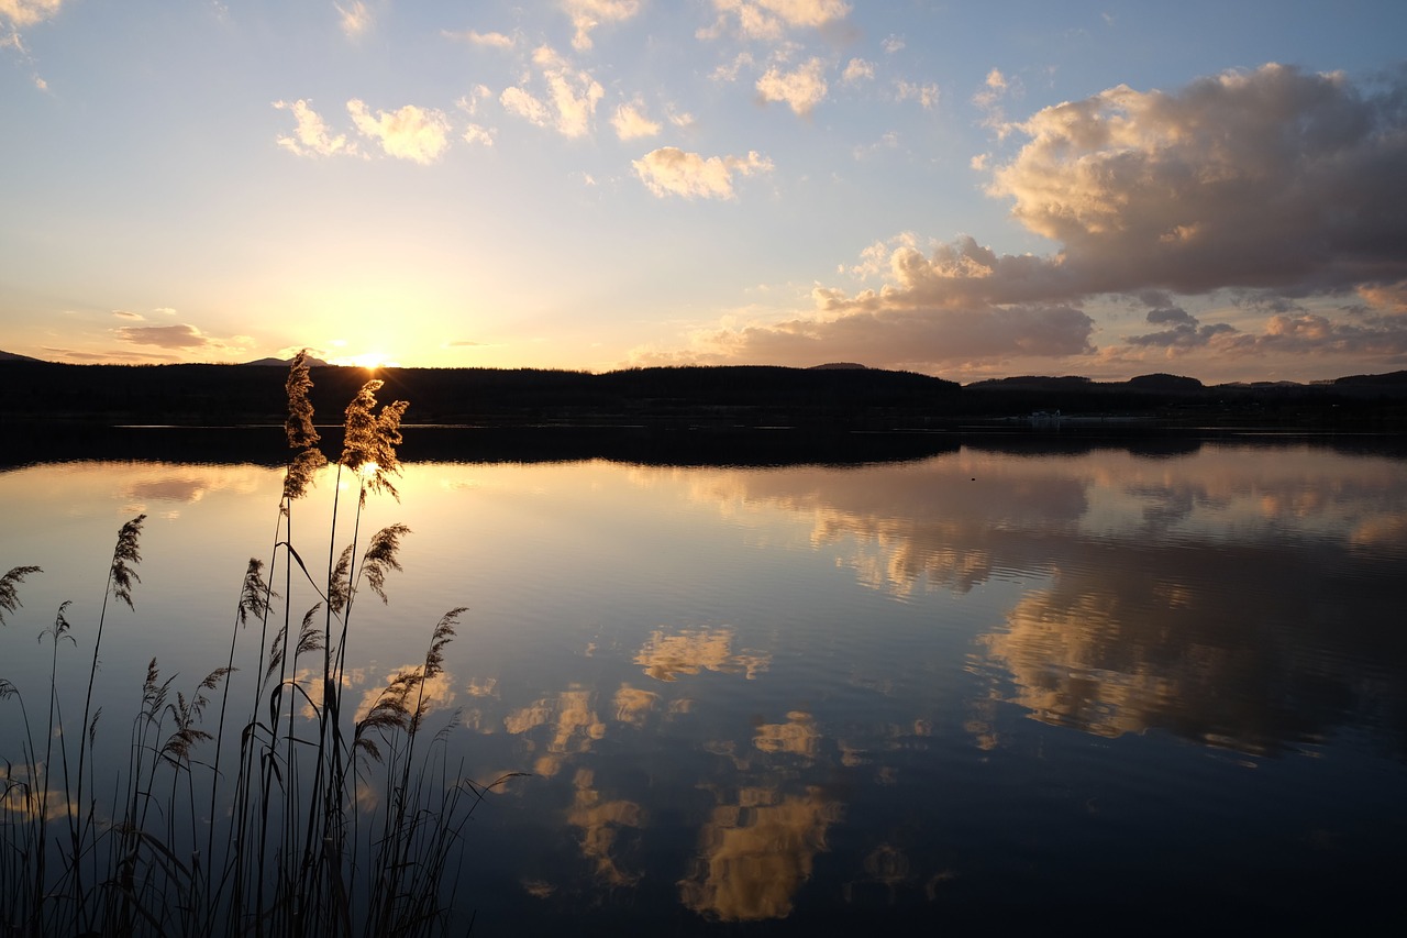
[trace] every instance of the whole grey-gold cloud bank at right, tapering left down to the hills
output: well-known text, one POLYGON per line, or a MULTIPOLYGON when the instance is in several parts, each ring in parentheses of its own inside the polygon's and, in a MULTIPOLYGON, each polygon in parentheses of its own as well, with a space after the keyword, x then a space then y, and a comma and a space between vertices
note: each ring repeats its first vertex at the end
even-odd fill
MULTIPOLYGON (((985 87, 999 96, 1013 82, 991 72, 985 87)), ((1407 361, 1407 69, 1356 86, 1280 65, 1173 92, 1120 86, 1009 127, 1026 141, 978 163, 988 193, 1054 252, 900 235, 847 270, 882 286, 819 284, 809 311, 702 330, 684 351, 636 361, 968 372, 1069 358, 1407 361), (1138 297, 1151 328, 1109 328, 1096 349, 1085 307, 1119 296, 1138 297), (1178 297, 1241 311, 1235 324, 1199 318, 1178 297)))

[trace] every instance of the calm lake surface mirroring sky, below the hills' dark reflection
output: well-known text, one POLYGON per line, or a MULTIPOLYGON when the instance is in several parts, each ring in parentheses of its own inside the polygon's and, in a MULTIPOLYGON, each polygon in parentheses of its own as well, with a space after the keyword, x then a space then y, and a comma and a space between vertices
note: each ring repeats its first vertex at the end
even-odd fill
MULTIPOLYGON (((414 430, 408 431, 412 435, 414 430)), ((1400 452, 1400 451, 1399 451, 1400 452)), ((726 462, 726 455, 712 459, 726 462)), ((0 676, 149 515, 98 694, 224 663, 281 472, 0 475, 0 569, 39 565, 0 676)), ((325 552, 331 476, 295 534, 325 552)), ((356 692, 467 606, 438 714, 488 780, 480 934, 889 934, 1403 920, 1407 461, 1372 445, 1010 448, 853 466, 418 462, 356 692)), ((39 693, 39 692, 30 692, 39 693)), ((0 755, 18 759, 0 701, 0 755)))

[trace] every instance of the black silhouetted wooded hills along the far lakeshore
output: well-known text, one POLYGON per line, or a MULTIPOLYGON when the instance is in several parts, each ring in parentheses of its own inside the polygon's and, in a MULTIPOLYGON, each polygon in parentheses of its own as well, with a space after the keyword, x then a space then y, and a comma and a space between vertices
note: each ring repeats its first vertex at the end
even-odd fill
MULTIPOLYGON (((6 423, 279 424, 283 373, 262 365, 0 362, 6 423)), ((960 386, 862 368, 646 368, 592 375, 543 369, 387 368, 381 400, 411 401, 408 423, 470 425, 704 425, 936 430, 960 423, 1140 417, 1165 425, 1407 427, 1407 372, 1320 384, 1220 384, 1145 375, 1127 382, 1012 377, 960 386)), ((360 368, 312 369, 319 421, 367 380, 360 368)))

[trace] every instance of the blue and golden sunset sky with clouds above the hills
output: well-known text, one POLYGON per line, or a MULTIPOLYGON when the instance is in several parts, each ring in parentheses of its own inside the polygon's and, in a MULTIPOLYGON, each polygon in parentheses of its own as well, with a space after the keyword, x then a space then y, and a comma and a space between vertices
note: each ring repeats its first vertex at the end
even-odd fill
POLYGON ((0 0, 0 349, 1407 369, 1407 3, 0 0))

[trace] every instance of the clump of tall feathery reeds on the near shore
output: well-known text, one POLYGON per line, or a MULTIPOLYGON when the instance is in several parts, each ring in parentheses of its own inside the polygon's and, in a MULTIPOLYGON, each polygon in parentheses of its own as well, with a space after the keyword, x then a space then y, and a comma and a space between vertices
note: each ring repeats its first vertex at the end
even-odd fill
MULTIPOLYGON (((250 558, 243 573, 227 661, 186 690, 152 659, 125 762, 97 768, 93 687, 104 630, 115 628, 110 604, 135 610, 144 515, 118 532, 77 732, 65 732, 59 668, 61 646, 80 645, 69 603, 39 637, 51 646, 41 711, 31 714, 20 684, 0 679, 0 699, 14 701, 23 725, 18 759, 6 755, 0 779, 7 935, 431 935, 466 925, 452 907, 464 825, 512 776, 480 784, 450 765, 453 717, 426 738, 426 682, 443 669, 464 610, 432 627, 422 663, 394 675, 364 713, 343 700, 356 600, 364 589, 388 600, 411 534, 400 524, 362 530, 369 496, 398 500, 407 403, 378 404, 381 382, 370 380, 348 406, 326 562, 317 565, 294 539, 326 465, 311 387, 300 352, 286 384, 293 452, 269 559, 250 558), (340 504, 343 477, 355 504, 340 504)), ((6 631, 21 608, 20 584, 41 573, 15 566, 0 576, 6 631)))

